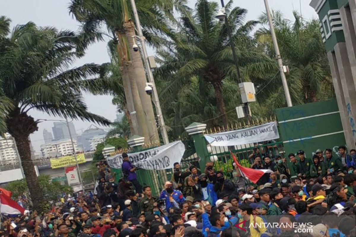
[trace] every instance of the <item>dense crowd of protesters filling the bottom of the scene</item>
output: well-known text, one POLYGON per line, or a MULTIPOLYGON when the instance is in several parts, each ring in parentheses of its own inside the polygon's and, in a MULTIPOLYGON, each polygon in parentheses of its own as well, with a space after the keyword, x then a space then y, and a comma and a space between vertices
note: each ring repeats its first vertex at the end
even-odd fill
POLYGON ((94 192, 65 196, 42 214, 3 216, 0 237, 350 237, 355 233, 356 151, 339 156, 317 150, 281 156, 255 149, 252 169, 270 169, 252 184, 236 168, 226 173, 206 163, 182 170, 157 196, 137 181, 137 167, 123 154, 123 177, 97 164, 94 192))

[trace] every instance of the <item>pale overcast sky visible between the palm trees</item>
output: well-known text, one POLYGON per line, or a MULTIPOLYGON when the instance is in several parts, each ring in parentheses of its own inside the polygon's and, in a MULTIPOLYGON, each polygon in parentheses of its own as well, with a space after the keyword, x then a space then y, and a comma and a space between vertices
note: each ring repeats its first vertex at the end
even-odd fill
MULTIPOLYGON (((218 0, 215 0, 218 1, 218 0)), ((58 29, 77 30, 79 27, 72 16, 68 14, 69 0, 12 0, 1 1, 0 15, 10 17, 12 26, 24 24, 28 21, 35 22, 38 26, 54 26, 58 29)), ((188 0, 189 6, 194 7, 195 0, 188 0)), ((218 1, 220 4, 220 1, 218 1)), ((310 0, 301 0, 302 14, 305 19, 317 18, 312 7, 309 6, 310 0)), ((225 0, 225 4, 227 0, 225 0)), ((269 0, 270 7, 273 10, 280 10, 284 16, 293 19, 293 10, 300 11, 299 0, 269 0)), ((240 6, 248 10, 246 20, 254 20, 265 11, 263 0, 235 0, 234 6, 240 6)), ((149 54, 153 54, 149 50, 149 54)), ((283 57, 283 55, 282 55, 283 57)), ((73 66, 79 66, 84 63, 105 63, 109 61, 106 50, 106 42, 99 42, 88 49, 86 55, 78 60, 73 66)), ((92 96, 84 95, 90 112, 103 115, 104 117, 114 120, 116 118, 116 107, 111 103, 110 96, 92 96)), ((30 113, 34 118, 42 119, 61 119, 49 117, 42 112, 32 111, 30 113)), ((46 128, 52 131, 53 122, 43 122, 39 124, 39 130, 31 135, 32 145, 36 152, 40 152, 40 145, 44 143, 42 130, 46 128)), ((90 126, 88 122, 74 121, 75 129, 80 134, 90 126)), ((37 153, 38 154, 38 153, 37 153)))

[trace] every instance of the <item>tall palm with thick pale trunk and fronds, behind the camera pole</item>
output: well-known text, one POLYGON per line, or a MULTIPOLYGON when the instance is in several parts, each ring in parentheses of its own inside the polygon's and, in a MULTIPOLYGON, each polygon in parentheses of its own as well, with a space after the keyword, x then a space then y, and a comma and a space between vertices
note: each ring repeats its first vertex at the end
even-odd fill
MULTIPOLYGON (((83 24, 83 32, 90 39, 102 39, 100 26, 106 25, 111 37, 117 42, 117 55, 121 67, 122 84, 125 89, 130 113, 136 111, 138 129, 147 141, 158 141, 158 131, 150 96, 145 93, 146 75, 141 55, 133 51, 136 36, 131 17, 131 6, 121 0, 72 0, 69 11, 83 24)), ((160 34, 169 34, 167 18, 174 19, 173 9, 184 9, 184 0, 140 0, 137 10, 146 38, 157 42, 160 34)))

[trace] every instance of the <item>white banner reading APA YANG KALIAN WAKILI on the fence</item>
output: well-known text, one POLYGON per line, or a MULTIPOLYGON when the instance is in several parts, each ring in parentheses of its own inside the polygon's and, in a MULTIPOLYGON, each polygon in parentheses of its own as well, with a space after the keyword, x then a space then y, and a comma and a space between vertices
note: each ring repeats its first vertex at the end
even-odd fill
POLYGON ((277 122, 266 123, 251 128, 204 135, 212 146, 235 146, 279 138, 277 122))

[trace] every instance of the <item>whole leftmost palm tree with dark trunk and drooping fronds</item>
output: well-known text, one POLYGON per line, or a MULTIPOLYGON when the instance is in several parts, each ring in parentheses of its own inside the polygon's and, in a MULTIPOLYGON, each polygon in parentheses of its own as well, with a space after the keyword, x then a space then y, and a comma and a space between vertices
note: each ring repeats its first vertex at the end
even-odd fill
POLYGON ((44 199, 31 161, 29 135, 38 130, 31 109, 64 118, 110 122, 88 112, 82 91, 105 91, 109 86, 101 65, 84 64, 69 69, 83 55, 85 44, 72 31, 37 27, 28 22, 9 29, 10 20, 0 18, 0 133, 15 139, 33 208, 41 211, 44 199), (5 26, 5 27, 4 27, 5 26))

